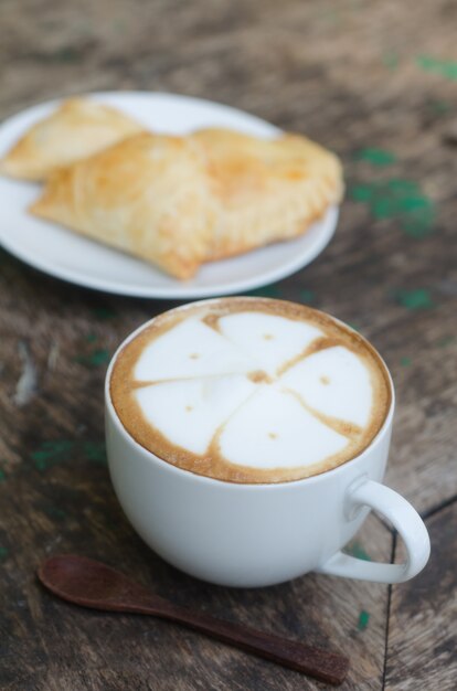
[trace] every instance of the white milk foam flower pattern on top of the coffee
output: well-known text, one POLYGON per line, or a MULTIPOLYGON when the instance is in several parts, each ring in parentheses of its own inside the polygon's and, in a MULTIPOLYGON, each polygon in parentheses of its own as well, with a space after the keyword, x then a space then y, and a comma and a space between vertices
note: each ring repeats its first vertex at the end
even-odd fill
POLYGON ((136 378, 162 383, 138 389, 137 402, 152 427, 193 454, 208 453, 223 426, 220 450, 231 464, 319 463, 340 453, 348 437, 312 411, 359 426, 369 421, 372 391, 361 359, 337 346, 304 357, 268 384, 244 373, 275 375, 322 336, 315 325, 263 312, 221 317, 217 331, 191 317, 144 350, 136 378), (163 382, 170 379, 181 381, 163 382))

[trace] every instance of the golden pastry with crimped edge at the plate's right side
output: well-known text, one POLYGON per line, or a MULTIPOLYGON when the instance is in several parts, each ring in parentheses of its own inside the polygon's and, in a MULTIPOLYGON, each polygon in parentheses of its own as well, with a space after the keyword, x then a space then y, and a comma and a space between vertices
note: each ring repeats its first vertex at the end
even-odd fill
POLYGON ((336 156, 298 135, 258 139, 224 129, 192 138, 205 151, 220 217, 208 259, 301 235, 341 200, 336 156))

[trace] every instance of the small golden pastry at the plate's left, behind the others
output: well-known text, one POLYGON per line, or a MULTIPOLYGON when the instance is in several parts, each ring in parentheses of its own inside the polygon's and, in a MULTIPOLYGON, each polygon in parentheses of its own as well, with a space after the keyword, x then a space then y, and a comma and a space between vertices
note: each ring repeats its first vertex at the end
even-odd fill
POLYGON ((12 178, 43 180, 56 168, 142 129, 115 108, 88 98, 71 98, 21 137, 0 161, 0 171, 12 178))

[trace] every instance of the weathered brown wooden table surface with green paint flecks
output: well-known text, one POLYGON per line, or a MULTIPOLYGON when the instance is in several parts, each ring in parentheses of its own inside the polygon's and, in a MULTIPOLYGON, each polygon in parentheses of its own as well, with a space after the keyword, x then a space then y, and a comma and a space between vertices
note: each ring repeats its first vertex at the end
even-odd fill
MULTIPOLYGON (((1 2, 1 118, 89 91, 166 91, 246 109, 342 158, 334 240, 258 293, 323 309, 381 351, 397 393, 386 482, 422 513, 433 548, 419 576, 392 587, 307 575, 236 591, 168 566, 111 489, 102 396, 120 340, 172 304, 71 286, 1 252, 1 689, 323 688, 171 624, 56 600, 35 570, 65 552, 344 651, 342 689, 457 688, 456 23, 448 0, 1 2)), ((402 557, 374 515, 349 549, 402 557)))

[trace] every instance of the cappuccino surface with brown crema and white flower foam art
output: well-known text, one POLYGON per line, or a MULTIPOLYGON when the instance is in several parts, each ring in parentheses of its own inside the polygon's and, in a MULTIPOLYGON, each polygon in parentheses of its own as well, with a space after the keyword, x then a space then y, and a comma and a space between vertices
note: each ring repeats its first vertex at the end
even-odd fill
POLYGON ((309 307, 221 298, 157 317, 119 351, 110 384, 129 435, 182 469, 284 482, 358 456, 391 404, 385 365, 309 307))

